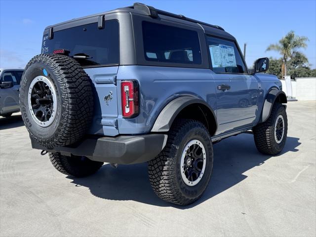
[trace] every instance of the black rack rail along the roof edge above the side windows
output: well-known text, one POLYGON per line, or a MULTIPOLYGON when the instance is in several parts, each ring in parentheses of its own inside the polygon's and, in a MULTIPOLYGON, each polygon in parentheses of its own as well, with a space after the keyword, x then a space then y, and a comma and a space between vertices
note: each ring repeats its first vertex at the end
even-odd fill
POLYGON ((144 3, 135 2, 133 4, 133 6, 129 6, 129 7, 130 8, 134 8, 134 9, 138 9, 138 10, 142 10, 145 14, 147 14, 148 16, 151 16, 153 18, 157 18, 158 14, 160 14, 160 15, 170 16, 170 17, 174 17, 174 18, 178 18, 178 19, 182 19, 182 20, 186 20, 186 21, 202 24, 202 25, 205 25, 205 26, 209 26, 209 27, 213 27, 213 28, 225 31, 220 26, 211 25, 211 24, 208 24, 208 23, 205 23, 205 22, 202 22, 202 21, 197 21, 197 20, 194 20, 194 19, 191 19, 191 18, 187 18, 184 15, 177 15, 177 14, 174 14, 174 13, 171 13, 171 12, 158 10, 155 7, 146 5, 144 3))

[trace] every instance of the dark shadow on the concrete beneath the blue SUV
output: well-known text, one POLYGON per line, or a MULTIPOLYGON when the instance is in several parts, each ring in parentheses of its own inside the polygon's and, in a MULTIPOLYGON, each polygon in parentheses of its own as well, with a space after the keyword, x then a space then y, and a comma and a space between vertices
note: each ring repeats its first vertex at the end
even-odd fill
MULTIPOLYGON (((281 154, 296 152, 301 143, 299 138, 287 137, 281 154)), ((280 154, 280 155, 281 155, 280 154)), ((134 200, 157 206, 173 206, 187 209, 224 192, 241 182, 243 173, 273 158, 260 154, 251 134, 241 134, 214 144, 214 164, 211 181, 197 202, 189 206, 177 206, 159 199, 152 191, 147 175, 147 163, 119 165, 113 169, 110 164, 104 165, 99 172, 87 178, 73 178, 76 186, 85 186, 96 197, 111 200, 134 200)), ((277 159, 277 157, 274 157, 277 159)))

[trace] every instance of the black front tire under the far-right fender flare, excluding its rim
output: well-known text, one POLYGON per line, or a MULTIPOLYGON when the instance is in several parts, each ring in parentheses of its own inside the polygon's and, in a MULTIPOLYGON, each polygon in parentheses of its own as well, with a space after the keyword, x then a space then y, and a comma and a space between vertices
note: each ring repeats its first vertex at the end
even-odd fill
POLYGON ((284 148, 287 136, 287 116, 285 106, 280 103, 273 105, 271 115, 267 121, 259 123, 253 128, 256 147, 259 152, 266 155, 277 155, 284 148), (284 133, 280 143, 275 139, 276 118, 281 115, 284 118, 284 133))

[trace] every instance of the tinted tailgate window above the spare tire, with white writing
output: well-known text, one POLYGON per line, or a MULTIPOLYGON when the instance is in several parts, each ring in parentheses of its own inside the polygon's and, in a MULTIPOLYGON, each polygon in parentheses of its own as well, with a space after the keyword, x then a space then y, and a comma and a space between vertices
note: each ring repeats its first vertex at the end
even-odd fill
POLYGON ((89 55, 90 58, 79 60, 82 66, 118 64, 118 21, 105 21, 103 29, 98 29, 98 24, 92 23, 57 31, 51 40, 44 35, 41 53, 51 54, 55 49, 67 49, 69 56, 89 55))

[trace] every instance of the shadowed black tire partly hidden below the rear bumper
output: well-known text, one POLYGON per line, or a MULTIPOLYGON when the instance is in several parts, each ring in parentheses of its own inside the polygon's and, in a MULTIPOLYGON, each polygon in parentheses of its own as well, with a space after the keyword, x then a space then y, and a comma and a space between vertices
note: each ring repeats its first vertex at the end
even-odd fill
POLYGON ((74 177, 94 174, 103 165, 103 162, 93 161, 86 157, 67 157, 57 152, 49 153, 49 159, 59 172, 74 177))

